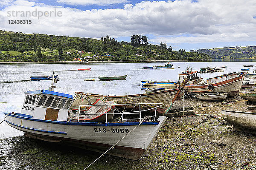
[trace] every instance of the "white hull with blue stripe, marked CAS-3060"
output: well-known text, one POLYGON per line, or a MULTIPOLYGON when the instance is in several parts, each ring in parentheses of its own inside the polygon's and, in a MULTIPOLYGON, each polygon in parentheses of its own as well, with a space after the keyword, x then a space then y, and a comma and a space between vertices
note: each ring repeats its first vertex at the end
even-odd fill
POLYGON ((61 122, 32 119, 11 113, 5 121, 8 125, 25 132, 27 137, 49 142, 64 142, 100 153, 104 153, 131 132, 106 154, 137 160, 143 155, 166 119, 167 117, 160 116, 157 121, 143 122, 141 125, 140 122, 61 122))

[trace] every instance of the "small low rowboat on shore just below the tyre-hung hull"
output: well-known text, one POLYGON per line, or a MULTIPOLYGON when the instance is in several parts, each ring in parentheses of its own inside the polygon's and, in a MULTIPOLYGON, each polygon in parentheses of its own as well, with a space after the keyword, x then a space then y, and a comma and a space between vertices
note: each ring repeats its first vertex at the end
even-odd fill
POLYGON ((207 101, 225 100, 227 99, 227 93, 203 93, 196 94, 195 97, 207 101))

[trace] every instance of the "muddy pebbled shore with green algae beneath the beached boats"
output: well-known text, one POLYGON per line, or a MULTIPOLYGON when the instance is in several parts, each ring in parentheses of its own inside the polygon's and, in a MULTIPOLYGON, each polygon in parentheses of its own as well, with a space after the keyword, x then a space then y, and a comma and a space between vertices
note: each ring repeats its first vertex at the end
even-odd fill
MULTIPOLYGON (((185 99, 184 105, 192 106, 195 115, 168 118, 141 159, 105 155, 87 170, 256 170, 256 136, 236 132, 221 118, 221 110, 247 111, 252 105, 244 102, 240 97, 224 102, 185 99), (189 134, 201 152, 188 133, 183 135, 192 127, 189 134)), ((0 169, 4 170, 83 170, 100 155, 24 136, 0 139, 0 169)))

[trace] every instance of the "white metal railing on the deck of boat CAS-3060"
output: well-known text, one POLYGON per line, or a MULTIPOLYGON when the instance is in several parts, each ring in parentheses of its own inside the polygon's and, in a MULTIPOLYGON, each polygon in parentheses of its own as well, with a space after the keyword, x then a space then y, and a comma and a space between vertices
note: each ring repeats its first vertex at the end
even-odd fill
MULTIPOLYGON (((102 114, 102 115, 106 115, 106 123, 108 122, 108 114, 111 114, 111 115, 115 115, 115 114, 120 115, 120 114, 122 114, 122 116, 120 117, 120 119, 122 119, 121 122, 123 122, 124 120, 140 120, 140 122, 141 122, 141 120, 143 119, 141 117, 142 112, 150 111, 150 110, 155 110, 154 111, 154 116, 150 116, 150 118, 154 117, 154 121, 155 121, 156 120, 156 115, 157 115, 157 108, 159 108, 162 105, 163 105, 163 103, 136 103, 136 104, 128 103, 128 104, 79 105, 75 115, 68 122, 70 122, 72 119, 74 119, 74 117, 76 115, 78 115, 77 122, 79 122, 80 115, 94 115, 94 114, 97 114, 97 113, 80 113, 81 108, 90 107, 90 106, 106 106, 106 112, 105 113, 99 113, 99 114, 102 114), (122 112, 122 113, 114 113, 114 112, 113 113, 108 113, 108 109, 111 108, 111 106, 121 106, 121 105, 125 105, 125 106, 126 105, 134 105, 134 108, 136 107, 136 105, 139 105, 139 111, 128 111, 128 112, 122 112), (145 109, 145 110, 141 110, 142 105, 157 105, 157 106, 155 106, 153 108, 148 108, 148 109, 145 109), (108 106, 110 106, 110 107, 108 107, 108 106), (135 118, 135 119, 124 119, 125 114, 129 114, 129 115, 131 115, 131 114, 140 114, 140 117, 135 118)), ((118 122, 120 121, 120 119, 118 120, 118 122)))

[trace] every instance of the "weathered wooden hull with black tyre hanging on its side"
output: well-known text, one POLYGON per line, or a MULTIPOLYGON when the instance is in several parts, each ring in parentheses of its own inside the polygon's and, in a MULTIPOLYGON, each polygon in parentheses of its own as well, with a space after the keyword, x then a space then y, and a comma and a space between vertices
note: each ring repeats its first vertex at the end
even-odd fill
POLYGON ((244 76, 238 76, 233 79, 227 79, 222 82, 216 82, 211 84, 214 88, 213 90, 208 89, 208 84, 205 85, 186 85, 184 88, 190 95, 218 92, 218 93, 227 93, 227 96, 237 97, 241 89, 244 76))

